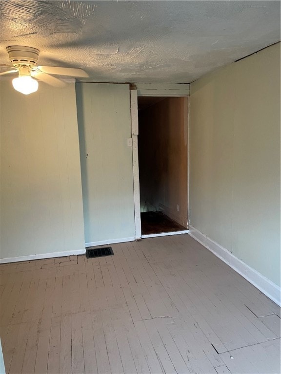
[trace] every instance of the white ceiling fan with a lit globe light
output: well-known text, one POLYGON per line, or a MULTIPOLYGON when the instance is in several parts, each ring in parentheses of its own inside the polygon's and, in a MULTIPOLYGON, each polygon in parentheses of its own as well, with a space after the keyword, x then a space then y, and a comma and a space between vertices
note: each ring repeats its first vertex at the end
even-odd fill
POLYGON ((32 47, 12 45, 6 48, 9 60, 13 66, 0 65, 2 67, 10 67, 13 70, 0 73, 6 75, 11 73, 19 73, 19 77, 14 78, 12 83, 14 89, 20 93, 28 95, 38 90, 38 81, 45 82, 55 87, 63 87, 65 82, 53 75, 67 75, 74 77, 88 77, 84 70, 79 68, 62 68, 55 66, 40 66, 38 64, 39 50, 32 47))

